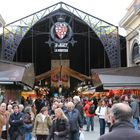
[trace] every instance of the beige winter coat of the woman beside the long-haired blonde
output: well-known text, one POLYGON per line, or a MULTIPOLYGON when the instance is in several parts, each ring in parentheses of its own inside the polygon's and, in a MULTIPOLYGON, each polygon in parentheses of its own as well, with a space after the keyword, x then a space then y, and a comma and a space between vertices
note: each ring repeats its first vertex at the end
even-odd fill
POLYGON ((33 127, 33 135, 49 135, 49 127, 52 124, 50 116, 46 117, 43 121, 42 114, 37 114, 33 127))

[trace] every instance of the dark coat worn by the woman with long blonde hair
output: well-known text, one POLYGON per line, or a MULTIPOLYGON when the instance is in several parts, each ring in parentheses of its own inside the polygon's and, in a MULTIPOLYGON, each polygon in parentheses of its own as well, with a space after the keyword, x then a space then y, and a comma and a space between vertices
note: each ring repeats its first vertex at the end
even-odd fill
POLYGON ((70 125, 69 121, 66 119, 55 119, 53 120, 52 126, 50 128, 50 134, 47 140, 68 140, 69 139, 70 125), (56 135, 54 132, 58 132, 56 135))

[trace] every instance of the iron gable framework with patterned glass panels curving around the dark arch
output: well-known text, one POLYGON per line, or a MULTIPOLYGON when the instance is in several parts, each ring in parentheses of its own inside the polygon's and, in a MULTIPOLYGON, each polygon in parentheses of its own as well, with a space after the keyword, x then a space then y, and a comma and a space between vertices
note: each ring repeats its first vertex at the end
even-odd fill
POLYGON ((17 48, 26 33, 39 20, 60 8, 67 10, 69 13, 74 14, 84 21, 101 40, 109 57, 111 67, 120 66, 118 27, 63 2, 59 2, 41 11, 33 13, 32 15, 6 25, 3 28, 2 59, 12 61, 17 48))

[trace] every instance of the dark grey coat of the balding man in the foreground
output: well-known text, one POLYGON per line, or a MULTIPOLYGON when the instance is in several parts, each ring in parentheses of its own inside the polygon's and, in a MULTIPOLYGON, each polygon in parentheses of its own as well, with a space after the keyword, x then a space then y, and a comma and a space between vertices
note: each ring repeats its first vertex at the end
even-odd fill
POLYGON ((102 135, 98 140, 140 140, 139 130, 135 130, 130 122, 118 122, 111 129, 110 133, 102 135))

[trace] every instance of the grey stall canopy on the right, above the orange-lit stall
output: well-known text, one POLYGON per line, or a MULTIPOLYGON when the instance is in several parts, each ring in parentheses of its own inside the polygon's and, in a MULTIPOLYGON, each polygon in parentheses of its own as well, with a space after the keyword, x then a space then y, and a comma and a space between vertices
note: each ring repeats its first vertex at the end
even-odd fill
POLYGON ((95 87, 103 89, 140 89, 140 66, 92 69, 95 87))

